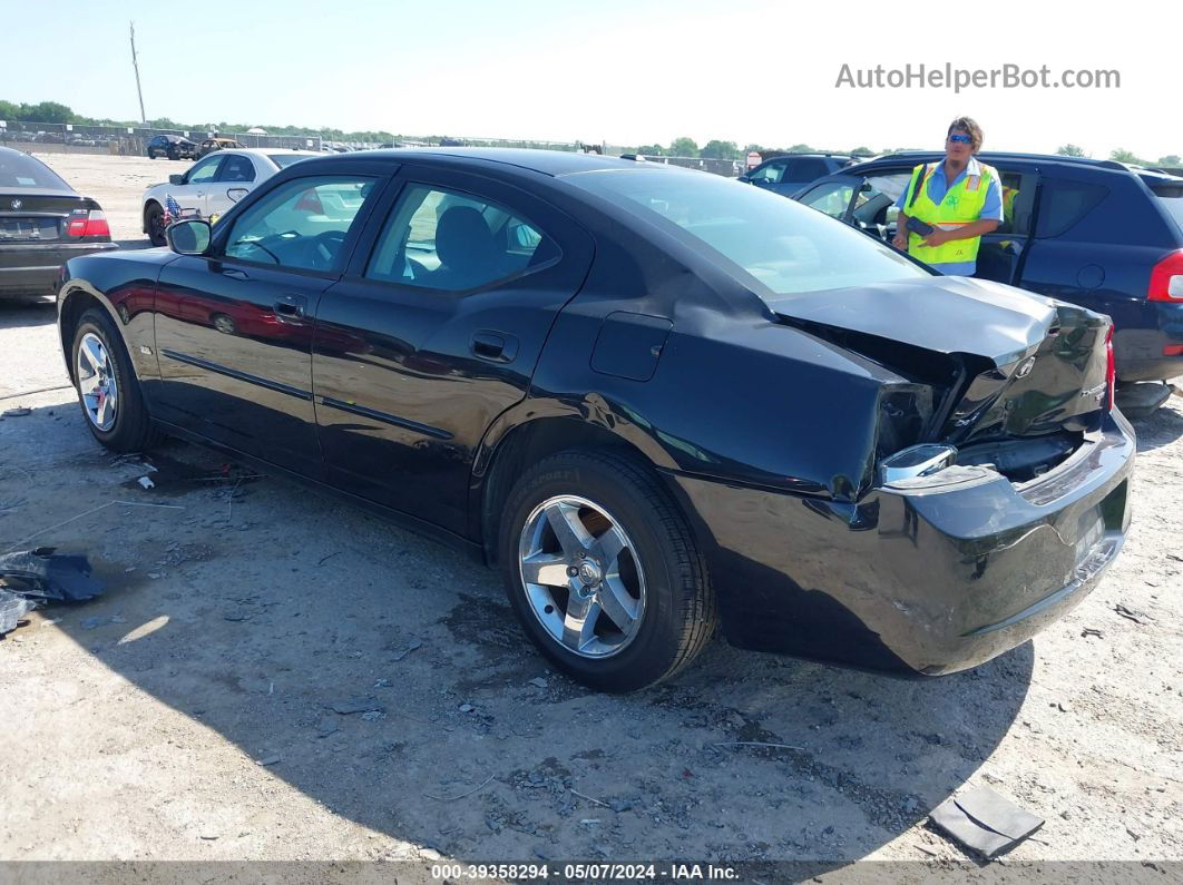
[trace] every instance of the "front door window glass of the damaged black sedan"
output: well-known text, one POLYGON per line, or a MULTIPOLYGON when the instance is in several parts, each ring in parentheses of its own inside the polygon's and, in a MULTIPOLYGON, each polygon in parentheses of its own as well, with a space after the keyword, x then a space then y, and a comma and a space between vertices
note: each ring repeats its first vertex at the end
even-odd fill
POLYGON ((234 222, 226 258, 334 273, 342 246, 375 180, 353 175, 293 178, 251 206, 234 222))

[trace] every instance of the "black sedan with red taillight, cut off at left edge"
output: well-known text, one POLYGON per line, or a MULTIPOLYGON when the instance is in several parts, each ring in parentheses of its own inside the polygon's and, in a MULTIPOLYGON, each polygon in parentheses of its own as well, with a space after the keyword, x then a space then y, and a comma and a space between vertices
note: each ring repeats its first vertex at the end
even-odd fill
POLYGON ((114 248, 97 202, 41 161, 0 148, 0 299, 51 295, 66 259, 114 248))

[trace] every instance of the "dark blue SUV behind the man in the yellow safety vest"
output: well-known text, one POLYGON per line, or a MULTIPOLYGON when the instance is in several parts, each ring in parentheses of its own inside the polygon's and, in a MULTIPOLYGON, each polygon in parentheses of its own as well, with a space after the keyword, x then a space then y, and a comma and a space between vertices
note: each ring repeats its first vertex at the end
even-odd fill
MULTIPOLYGON (((943 156, 878 157, 795 199, 891 242, 912 169, 943 156)), ((1107 313, 1119 406, 1131 417, 1157 409, 1170 396, 1163 382, 1183 375, 1183 178, 1110 160, 981 160, 1002 176, 1004 220, 982 237, 975 276, 1107 313)))

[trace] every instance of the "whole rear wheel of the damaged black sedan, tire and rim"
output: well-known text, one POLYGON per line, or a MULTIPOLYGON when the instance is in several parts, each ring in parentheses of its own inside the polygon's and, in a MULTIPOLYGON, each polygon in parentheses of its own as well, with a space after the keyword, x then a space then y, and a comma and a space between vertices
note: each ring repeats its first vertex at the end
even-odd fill
POLYGON ((677 506, 631 457, 564 451, 506 500, 499 561, 526 633, 571 678, 633 691, 690 664, 715 597, 677 506))

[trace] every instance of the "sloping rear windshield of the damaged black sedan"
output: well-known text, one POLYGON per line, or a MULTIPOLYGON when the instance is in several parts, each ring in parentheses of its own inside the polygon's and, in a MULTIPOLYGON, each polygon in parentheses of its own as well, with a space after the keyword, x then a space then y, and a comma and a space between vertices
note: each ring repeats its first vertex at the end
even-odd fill
POLYGON ((659 228, 689 235, 745 285, 776 295, 931 275, 841 221, 718 175, 605 170, 565 180, 659 228))

